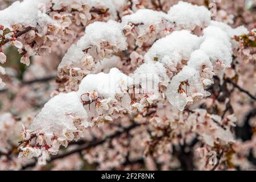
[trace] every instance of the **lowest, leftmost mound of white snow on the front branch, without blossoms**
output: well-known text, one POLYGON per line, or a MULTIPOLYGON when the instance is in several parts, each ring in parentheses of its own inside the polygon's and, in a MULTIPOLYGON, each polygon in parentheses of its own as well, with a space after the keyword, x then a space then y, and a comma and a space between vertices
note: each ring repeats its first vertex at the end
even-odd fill
POLYGON ((60 93, 44 105, 32 122, 31 130, 60 137, 63 131, 77 131, 73 123, 74 119, 81 119, 84 127, 91 126, 87 122, 87 113, 77 93, 60 93))

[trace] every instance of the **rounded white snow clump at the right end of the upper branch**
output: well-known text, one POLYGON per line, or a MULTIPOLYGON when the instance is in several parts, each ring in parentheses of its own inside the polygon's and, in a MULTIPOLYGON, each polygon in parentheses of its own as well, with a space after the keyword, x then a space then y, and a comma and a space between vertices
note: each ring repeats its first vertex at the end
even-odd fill
POLYGON ((204 6, 179 1, 168 11, 169 19, 175 23, 175 30, 195 30, 210 24, 210 11, 204 6))

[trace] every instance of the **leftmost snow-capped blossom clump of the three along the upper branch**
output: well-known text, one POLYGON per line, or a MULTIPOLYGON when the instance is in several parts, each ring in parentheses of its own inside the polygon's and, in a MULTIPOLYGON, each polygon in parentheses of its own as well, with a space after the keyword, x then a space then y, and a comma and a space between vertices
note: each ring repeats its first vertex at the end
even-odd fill
POLYGON ((63 57, 58 67, 59 76, 67 74, 81 80, 84 75, 94 71, 98 61, 110 58, 114 52, 125 50, 126 47, 120 23, 109 20, 89 24, 85 35, 63 57))

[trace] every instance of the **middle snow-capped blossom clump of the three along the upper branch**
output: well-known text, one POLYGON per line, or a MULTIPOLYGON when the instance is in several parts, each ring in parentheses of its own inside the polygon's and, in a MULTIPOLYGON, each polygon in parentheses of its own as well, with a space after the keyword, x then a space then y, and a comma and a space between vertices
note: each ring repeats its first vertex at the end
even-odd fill
POLYGON ((136 40, 139 47, 143 43, 154 43, 173 31, 173 24, 168 20, 166 13, 150 9, 141 9, 131 15, 122 17, 125 35, 136 40), (129 36, 130 35, 130 36, 129 36))

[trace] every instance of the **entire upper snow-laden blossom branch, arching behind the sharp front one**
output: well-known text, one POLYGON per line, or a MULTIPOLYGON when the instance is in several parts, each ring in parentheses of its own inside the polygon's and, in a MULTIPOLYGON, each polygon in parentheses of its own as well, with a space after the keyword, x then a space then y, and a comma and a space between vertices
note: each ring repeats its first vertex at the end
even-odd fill
MULTIPOLYGON (((126 50, 127 45, 134 47, 135 44, 141 47, 145 43, 154 43, 156 39, 162 38, 174 30, 194 31, 196 27, 204 28, 209 23, 210 13, 205 7, 193 6, 185 2, 179 2, 171 7, 168 14, 141 9, 134 14, 123 16, 121 23, 111 20, 107 23, 92 23, 86 27, 85 35, 77 44, 69 48, 61 61, 58 68, 60 77, 69 75, 81 80, 84 75, 94 71, 98 61, 102 58, 110 58, 114 52, 119 50, 126 50), (186 12, 191 15, 185 15, 186 12), (188 18, 184 19, 184 16, 188 18), (187 24, 190 29, 184 24, 187 24)), ((139 55, 134 52, 133 60, 138 57, 139 55)))

